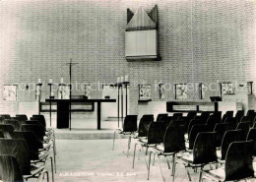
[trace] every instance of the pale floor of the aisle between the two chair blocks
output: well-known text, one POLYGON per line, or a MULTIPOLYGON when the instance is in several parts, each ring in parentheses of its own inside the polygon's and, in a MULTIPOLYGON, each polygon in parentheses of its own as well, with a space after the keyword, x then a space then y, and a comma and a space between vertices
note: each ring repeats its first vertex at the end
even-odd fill
MULTIPOLYGON (((112 151, 112 140, 58 140, 57 145, 57 182, 84 181, 148 181, 147 168, 143 153, 136 157, 132 168, 134 143, 129 156, 126 156, 127 140, 117 140, 112 151)), ((148 156, 147 156, 148 159, 148 156)), ((171 160, 171 158, 169 158, 171 160)), ((151 166, 150 181, 162 181, 159 162, 151 166)), ((166 181, 171 181, 170 170, 164 157, 161 166, 166 181)), ((191 170, 192 181, 198 180, 198 173, 191 170)), ((184 166, 177 164, 176 182, 185 182, 187 176, 184 166)))

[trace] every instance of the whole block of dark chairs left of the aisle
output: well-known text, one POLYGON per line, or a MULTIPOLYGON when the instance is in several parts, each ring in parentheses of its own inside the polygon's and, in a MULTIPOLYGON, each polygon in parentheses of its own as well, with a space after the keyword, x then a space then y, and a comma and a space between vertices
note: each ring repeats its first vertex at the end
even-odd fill
POLYGON ((49 181, 45 165, 50 161, 52 181, 56 173, 54 130, 46 128, 43 115, 0 115, 0 178, 2 181, 24 181, 44 178, 49 181), (50 152, 52 149, 52 152, 50 152), (51 154, 52 153, 52 154, 51 154), (54 162, 53 162, 54 161, 54 162))

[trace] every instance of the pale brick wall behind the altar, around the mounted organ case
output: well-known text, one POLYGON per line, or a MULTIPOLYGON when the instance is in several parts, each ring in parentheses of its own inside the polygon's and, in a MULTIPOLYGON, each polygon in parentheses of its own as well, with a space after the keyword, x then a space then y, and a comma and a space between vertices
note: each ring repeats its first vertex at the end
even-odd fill
MULTIPOLYGON (((139 83, 218 83, 256 81, 256 5, 253 0, 73 0, 0 2, 0 87, 4 84, 115 82, 129 75, 130 113, 138 113, 139 83), (159 6, 160 62, 124 58, 126 9, 159 6)), ((256 91, 256 83, 254 91, 256 91)), ((218 95, 207 91, 209 95, 218 95)), ((83 91, 74 91, 81 94, 83 91)), ((49 94, 44 86, 42 98, 49 94)), ((93 91, 99 97, 100 91, 93 91)), ((2 91, 0 91, 0 98, 2 91)), ((34 100, 34 91, 18 91, 18 101, 34 100)), ((159 100, 159 91, 152 91, 159 100)), ((199 98, 189 91, 188 99, 199 98)), ((164 100, 174 99, 165 91, 164 100)), ((208 99, 208 98, 207 98, 208 99)), ((15 112, 17 102, 0 99, 0 112, 15 112)))

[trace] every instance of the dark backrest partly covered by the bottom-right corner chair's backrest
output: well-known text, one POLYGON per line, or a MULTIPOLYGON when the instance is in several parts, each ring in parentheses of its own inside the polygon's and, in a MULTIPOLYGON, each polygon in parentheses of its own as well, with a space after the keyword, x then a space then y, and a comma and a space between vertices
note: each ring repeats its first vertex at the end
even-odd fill
POLYGON ((222 160, 225 158, 225 154, 229 145, 232 142, 242 141, 241 130, 227 130, 224 133, 224 139, 222 142, 222 160))

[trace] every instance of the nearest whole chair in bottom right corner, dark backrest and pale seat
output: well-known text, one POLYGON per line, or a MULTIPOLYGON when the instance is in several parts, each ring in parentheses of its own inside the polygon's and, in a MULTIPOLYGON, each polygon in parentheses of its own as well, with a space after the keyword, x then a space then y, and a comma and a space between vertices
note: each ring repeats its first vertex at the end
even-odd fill
POLYGON ((224 167, 215 170, 203 170, 203 178, 220 182, 254 177, 252 148, 253 141, 231 143, 226 152, 224 167))

